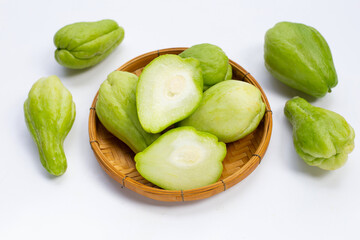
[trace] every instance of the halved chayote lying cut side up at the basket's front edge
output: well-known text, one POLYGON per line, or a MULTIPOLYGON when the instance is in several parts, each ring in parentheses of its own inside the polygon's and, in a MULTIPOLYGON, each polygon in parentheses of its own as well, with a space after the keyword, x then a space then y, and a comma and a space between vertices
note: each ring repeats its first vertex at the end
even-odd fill
POLYGON ((136 154, 136 169, 167 190, 187 190, 215 183, 222 173, 226 146, 192 127, 169 130, 136 154))

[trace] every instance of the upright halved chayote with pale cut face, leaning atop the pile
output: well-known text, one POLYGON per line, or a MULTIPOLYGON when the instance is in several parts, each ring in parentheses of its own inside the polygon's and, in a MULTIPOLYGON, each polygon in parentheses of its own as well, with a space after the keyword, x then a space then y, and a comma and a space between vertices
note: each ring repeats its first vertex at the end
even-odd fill
POLYGON ((200 63, 166 54, 142 71, 136 90, 137 111, 147 132, 159 133, 195 111, 202 98, 200 63))

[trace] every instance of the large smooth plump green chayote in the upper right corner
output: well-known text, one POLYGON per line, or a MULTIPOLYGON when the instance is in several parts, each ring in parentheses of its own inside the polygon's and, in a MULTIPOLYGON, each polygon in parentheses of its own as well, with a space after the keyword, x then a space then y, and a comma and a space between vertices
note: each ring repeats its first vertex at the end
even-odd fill
POLYGON ((277 23, 266 32, 264 51, 268 71, 292 88, 323 97, 337 85, 330 48, 315 28, 277 23))

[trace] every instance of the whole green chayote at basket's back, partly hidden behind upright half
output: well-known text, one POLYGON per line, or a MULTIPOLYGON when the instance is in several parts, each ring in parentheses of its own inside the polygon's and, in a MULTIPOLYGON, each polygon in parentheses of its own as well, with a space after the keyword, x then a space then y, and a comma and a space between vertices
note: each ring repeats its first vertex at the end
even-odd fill
POLYGON ((200 61, 204 86, 211 86, 225 80, 229 59, 218 46, 209 43, 194 45, 180 53, 179 56, 193 57, 200 61))

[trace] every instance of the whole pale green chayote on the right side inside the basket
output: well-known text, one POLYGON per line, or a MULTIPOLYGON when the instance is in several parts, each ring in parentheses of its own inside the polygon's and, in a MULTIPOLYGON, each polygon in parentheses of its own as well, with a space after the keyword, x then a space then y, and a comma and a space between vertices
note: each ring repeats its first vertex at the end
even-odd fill
POLYGON ((193 126, 228 143, 254 131, 264 113, 259 89, 246 82, 226 80, 206 90, 200 106, 179 125, 193 126))

